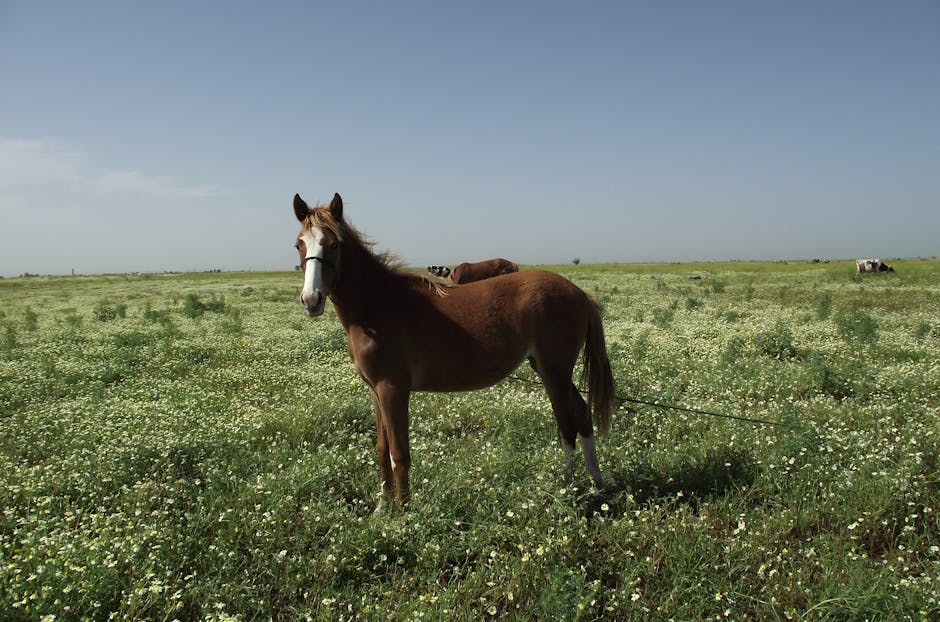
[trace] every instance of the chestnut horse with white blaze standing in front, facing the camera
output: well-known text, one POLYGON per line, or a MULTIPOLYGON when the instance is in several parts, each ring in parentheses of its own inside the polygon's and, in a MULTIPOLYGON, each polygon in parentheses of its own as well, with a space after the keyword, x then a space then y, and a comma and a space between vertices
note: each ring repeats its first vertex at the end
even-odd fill
POLYGON ((296 195, 294 212, 301 304, 316 316, 333 301, 349 356, 372 392, 383 492, 377 510, 393 479, 399 503, 408 499, 410 393, 488 387, 526 358, 545 385, 568 467, 581 436, 587 472, 601 483, 591 413, 606 432, 614 381, 600 312, 586 293, 541 270, 446 287, 374 254, 343 218, 338 194, 313 209, 296 195), (590 408, 571 381, 582 346, 590 408))

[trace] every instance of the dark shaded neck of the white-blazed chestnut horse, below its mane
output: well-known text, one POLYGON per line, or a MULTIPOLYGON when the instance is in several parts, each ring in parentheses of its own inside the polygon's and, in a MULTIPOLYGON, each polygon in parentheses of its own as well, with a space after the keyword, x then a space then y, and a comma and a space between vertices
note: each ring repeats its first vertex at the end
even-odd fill
POLYGON ((340 280, 330 298, 346 330, 350 325, 365 324, 372 312, 382 308, 383 300, 398 278, 380 259, 362 247, 343 254, 340 280))

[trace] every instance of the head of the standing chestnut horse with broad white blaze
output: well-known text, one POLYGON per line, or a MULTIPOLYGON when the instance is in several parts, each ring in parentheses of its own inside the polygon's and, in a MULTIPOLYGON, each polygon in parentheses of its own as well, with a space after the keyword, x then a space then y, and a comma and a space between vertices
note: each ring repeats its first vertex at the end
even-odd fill
POLYGON ((329 206, 310 208, 294 195, 294 213, 300 221, 297 252, 304 273, 300 304, 310 315, 321 315, 336 283, 343 242, 343 199, 337 194, 329 206))

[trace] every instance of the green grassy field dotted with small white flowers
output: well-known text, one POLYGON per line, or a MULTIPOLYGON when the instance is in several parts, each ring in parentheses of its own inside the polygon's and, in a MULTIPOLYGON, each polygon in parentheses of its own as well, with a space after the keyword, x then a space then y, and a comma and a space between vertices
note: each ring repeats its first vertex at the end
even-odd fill
POLYGON ((297 273, 0 280, 0 618, 937 619, 940 262, 894 265, 556 266, 620 395, 784 425, 623 405, 596 490, 539 387, 417 394, 380 517, 297 273))

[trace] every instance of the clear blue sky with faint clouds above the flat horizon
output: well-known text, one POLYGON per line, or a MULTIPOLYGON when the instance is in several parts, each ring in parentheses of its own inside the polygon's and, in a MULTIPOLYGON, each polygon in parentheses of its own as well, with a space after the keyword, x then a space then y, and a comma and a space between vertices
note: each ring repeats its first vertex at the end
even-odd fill
POLYGON ((940 254, 940 2, 0 0, 0 274, 940 254))

